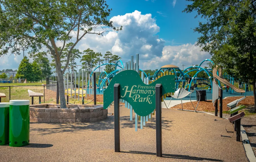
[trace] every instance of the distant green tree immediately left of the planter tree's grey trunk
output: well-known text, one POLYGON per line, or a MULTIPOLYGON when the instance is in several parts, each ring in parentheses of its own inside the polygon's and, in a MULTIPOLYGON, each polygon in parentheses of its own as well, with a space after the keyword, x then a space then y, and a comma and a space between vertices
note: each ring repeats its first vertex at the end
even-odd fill
POLYGON ((37 64, 41 69, 41 72, 42 72, 41 79, 46 78, 46 76, 49 76, 52 74, 50 61, 47 58, 46 52, 38 52, 37 54, 35 54, 33 56, 33 61, 37 62, 37 64))

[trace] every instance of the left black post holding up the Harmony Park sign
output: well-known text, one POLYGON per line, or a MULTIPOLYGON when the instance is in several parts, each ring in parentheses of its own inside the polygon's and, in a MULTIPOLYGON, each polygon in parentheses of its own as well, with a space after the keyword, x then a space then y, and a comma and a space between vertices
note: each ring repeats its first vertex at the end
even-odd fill
MULTIPOLYGON (((94 82, 95 83, 95 82, 94 82)), ((120 152, 120 84, 114 84, 114 134, 115 152, 120 152)))

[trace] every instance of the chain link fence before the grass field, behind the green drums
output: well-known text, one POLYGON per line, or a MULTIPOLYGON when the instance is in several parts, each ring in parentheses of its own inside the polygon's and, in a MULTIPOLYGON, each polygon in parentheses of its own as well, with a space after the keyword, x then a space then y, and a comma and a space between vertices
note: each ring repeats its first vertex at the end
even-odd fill
MULTIPOLYGON (((1 98, 1 102, 9 102, 9 100, 30 100, 28 90, 42 93, 41 103, 56 103, 57 84, 50 85, 33 85, 33 86, 0 86, 0 93, 5 93, 6 97, 1 98)), ((34 104, 39 104, 39 97, 34 97, 34 104)))

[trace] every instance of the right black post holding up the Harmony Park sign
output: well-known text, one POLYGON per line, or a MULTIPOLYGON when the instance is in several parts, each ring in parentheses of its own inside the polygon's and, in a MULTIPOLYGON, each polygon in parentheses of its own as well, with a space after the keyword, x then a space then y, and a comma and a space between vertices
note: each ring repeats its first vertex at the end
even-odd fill
POLYGON ((162 84, 156 84, 156 156, 162 157, 162 84))

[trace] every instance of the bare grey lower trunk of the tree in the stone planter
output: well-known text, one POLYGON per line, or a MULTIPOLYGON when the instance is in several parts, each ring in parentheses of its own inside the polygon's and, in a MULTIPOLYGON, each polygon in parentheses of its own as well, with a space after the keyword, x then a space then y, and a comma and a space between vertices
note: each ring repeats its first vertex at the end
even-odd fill
POLYGON ((56 71, 58 74, 58 81, 59 81, 60 107, 62 109, 66 109, 65 89, 64 89, 63 74, 61 72, 61 67, 56 68, 56 71))

